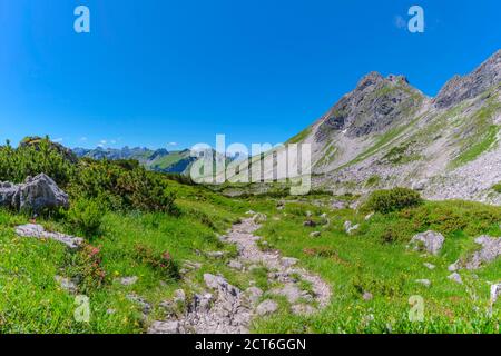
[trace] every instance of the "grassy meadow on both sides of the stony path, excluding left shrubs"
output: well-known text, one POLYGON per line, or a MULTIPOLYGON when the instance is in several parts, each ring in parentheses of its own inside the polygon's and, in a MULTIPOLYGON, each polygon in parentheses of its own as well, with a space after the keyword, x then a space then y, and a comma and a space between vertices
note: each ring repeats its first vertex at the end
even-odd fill
MULTIPOLYGON (((334 295, 326 310, 311 317, 293 316, 289 306, 278 298, 281 312, 256 320, 254 330, 257 333, 499 332, 495 323, 499 309, 493 318, 488 318, 485 310, 487 280, 499 278, 501 261, 475 274, 462 273, 464 286, 446 279, 450 274, 446 266, 474 248, 474 237, 481 234, 501 236, 500 208, 460 201, 429 202, 403 214, 375 215, 367 222, 363 214, 348 209, 331 210, 292 201, 287 202, 285 215, 276 210, 272 199, 228 199, 181 185, 177 185, 176 190, 177 204, 184 211, 180 218, 159 214, 109 212, 105 216, 102 234, 91 244, 101 248, 107 279, 104 287, 89 295, 90 324, 75 322, 75 297, 53 280, 55 275, 67 274, 69 253, 56 243, 16 237, 12 227, 26 222, 27 218, 0 210, 0 333, 141 333, 151 320, 165 317, 159 304, 170 298, 174 290, 197 291, 194 285, 203 285, 204 273, 220 273, 242 289, 254 279, 257 286, 268 290, 273 286, 267 284, 267 270, 261 268, 244 275, 229 269, 226 263, 235 254, 234 247, 223 246, 215 236, 249 208, 268 214, 268 221, 258 234, 273 248, 299 258, 303 266, 318 273, 332 285, 334 295), (331 225, 322 228, 321 238, 310 238, 314 229, 303 227, 307 210, 316 217, 322 212, 328 215, 331 225), (345 220, 362 224, 360 231, 346 236, 345 220), (446 236, 442 254, 423 258, 406 250, 409 238, 429 228, 446 236), (394 241, 383 243, 382 236, 386 239, 390 236, 394 241), (157 253, 169 251, 179 263, 199 261, 203 267, 188 275, 193 283, 166 279, 134 258, 138 244, 157 253), (229 255, 217 260, 197 250, 227 250, 229 255), (424 261, 436 265, 436 269, 429 270, 424 261), (139 280, 130 287, 116 281, 125 276, 138 276, 139 280), (422 278, 432 281, 431 288, 414 281, 422 278), (373 293, 374 299, 363 301, 361 290, 373 293), (140 306, 127 299, 130 293, 153 305, 147 320, 141 318, 140 306), (407 322, 407 301, 412 295, 421 295, 425 300, 425 323, 407 322), (108 309, 115 313, 108 314, 108 309), (370 315, 373 322, 367 322, 370 315)), ((55 221, 42 224, 57 230, 66 229, 55 221)))

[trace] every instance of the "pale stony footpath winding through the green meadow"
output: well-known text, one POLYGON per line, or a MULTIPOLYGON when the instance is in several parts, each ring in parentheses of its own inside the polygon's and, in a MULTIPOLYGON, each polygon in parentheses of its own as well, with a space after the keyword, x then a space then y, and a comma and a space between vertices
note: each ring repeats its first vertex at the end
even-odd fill
POLYGON ((291 304, 294 314, 313 314, 327 306, 331 288, 318 276, 295 267, 297 260, 282 257, 276 251, 263 251, 257 246, 259 237, 254 231, 259 228, 255 218, 235 225, 223 239, 235 244, 236 259, 229 263, 242 273, 265 267, 268 283, 275 287, 266 294, 252 286, 245 291, 232 286, 223 276, 204 275, 207 291, 194 296, 183 317, 166 322, 155 322, 150 334, 245 334, 255 316, 265 316, 278 309, 276 301, 265 296, 283 296, 291 304), (310 285, 308 290, 302 286, 310 285), (262 301, 263 300, 263 301, 262 301))

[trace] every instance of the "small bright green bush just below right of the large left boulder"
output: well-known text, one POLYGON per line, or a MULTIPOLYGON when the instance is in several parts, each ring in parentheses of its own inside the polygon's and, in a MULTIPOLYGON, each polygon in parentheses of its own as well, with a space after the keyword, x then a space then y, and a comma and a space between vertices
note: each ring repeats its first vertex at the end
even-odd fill
POLYGON ((69 225, 86 237, 92 237, 99 233, 102 221, 104 208, 96 199, 79 198, 73 201, 65 218, 69 225))

